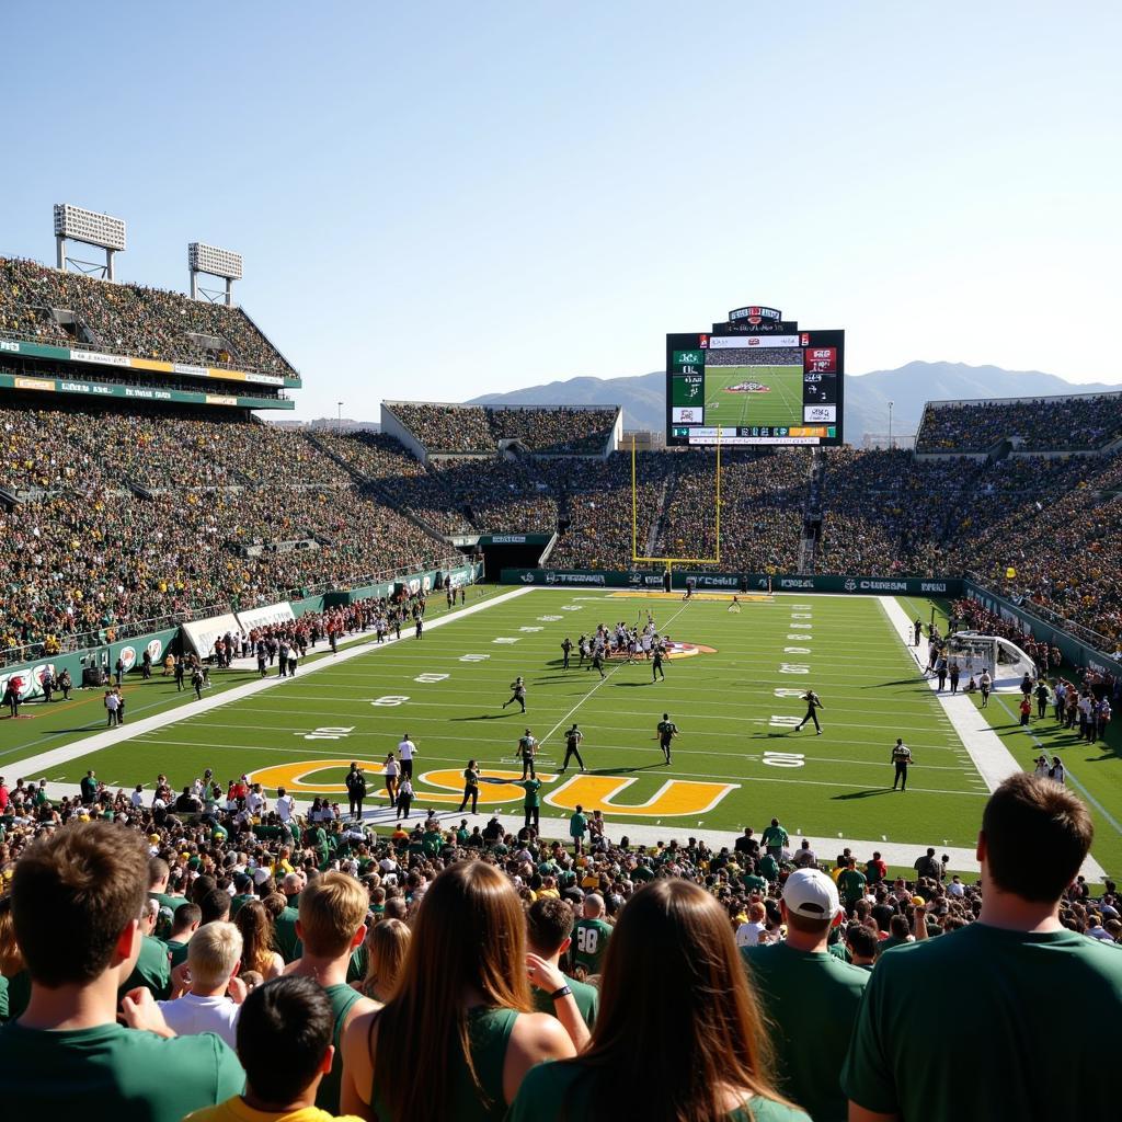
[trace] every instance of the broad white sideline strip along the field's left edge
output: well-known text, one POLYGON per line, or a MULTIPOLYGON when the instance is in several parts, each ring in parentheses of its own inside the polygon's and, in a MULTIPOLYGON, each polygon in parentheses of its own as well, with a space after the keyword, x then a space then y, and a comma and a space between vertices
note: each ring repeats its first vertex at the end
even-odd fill
MULTIPOLYGON (((533 589, 515 588, 509 592, 503 592, 499 596, 481 600, 479 604, 472 604, 470 607, 461 608, 459 611, 450 611, 447 615, 441 616, 439 619, 434 619, 425 627, 425 631, 427 632, 435 627, 442 627, 444 624, 450 623, 453 619, 462 619, 465 616, 482 611, 494 604, 504 604, 505 601, 513 600, 518 596, 525 596, 530 591, 533 591, 533 589)), ((364 643, 361 637, 359 637, 357 642, 352 641, 355 645, 348 650, 340 651, 335 655, 319 659, 316 662, 311 663, 306 668, 302 666, 300 670, 300 677, 306 678, 309 674, 314 674, 327 666, 338 666, 341 662, 349 662, 351 659, 357 659, 364 654, 370 654, 374 651, 385 651, 398 642, 405 643, 411 638, 412 636, 406 636, 401 640, 387 638, 385 642, 378 643, 371 637, 368 642, 364 643)), ((135 737, 142 736, 146 733, 153 733, 159 728, 167 728, 169 725, 175 725, 181 720, 188 720, 191 717, 197 717, 201 714, 210 712, 212 709, 217 709, 219 706, 227 705, 230 701, 240 701, 242 698, 254 697, 264 690, 273 689, 282 683, 287 683, 288 681, 291 681, 291 679, 287 678, 261 678, 256 682, 247 682, 245 686, 236 686, 233 689, 226 690, 224 692, 218 693, 213 697, 204 697, 202 701, 196 701, 194 705, 178 706, 177 708, 171 709, 166 712, 156 714, 153 717, 145 717, 144 720, 126 725, 123 732, 116 728, 104 733, 98 733, 94 736, 88 736, 85 739, 74 741, 71 744, 63 745, 62 747, 52 748, 50 752, 43 752, 37 756, 25 757, 13 761, 12 763, 4 761, 4 764, 11 772, 15 772, 18 767, 25 775, 33 773, 35 775, 44 775, 52 767, 57 767, 59 764, 68 763, 71 760, 76 760, 80 756, 88 756, 91 753, 100 752, 102 748, 108 748, 113 744, 121 744, 125 741, 131 741, 135 737)))

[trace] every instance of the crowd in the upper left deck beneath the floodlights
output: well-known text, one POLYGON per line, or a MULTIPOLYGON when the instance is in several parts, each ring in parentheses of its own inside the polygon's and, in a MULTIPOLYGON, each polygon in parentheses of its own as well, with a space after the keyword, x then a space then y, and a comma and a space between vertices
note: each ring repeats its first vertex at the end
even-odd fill
POLYGON ((238 307, 30 260, 0 258, 0 334, 136 358, 296 373, 238 307), (55 310, 73 313, 76 323, 64 329, 55 310))

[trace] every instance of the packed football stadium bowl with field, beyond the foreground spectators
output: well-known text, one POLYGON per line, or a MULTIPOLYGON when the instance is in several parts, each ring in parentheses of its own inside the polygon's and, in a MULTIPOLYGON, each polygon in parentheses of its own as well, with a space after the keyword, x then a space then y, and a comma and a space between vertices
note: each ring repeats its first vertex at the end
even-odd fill
MULTIPOLYGON (((278 866, 369 885, 389 861, 407 884, 540 835, 539 871, 498 862, 526 900, 595 889, 610 919, 627 870, 669 867, 738 928, 754 879, 779 891, 808 850, 945 900, 977 875, 991 792, 1042 755, 1095 824, 1079 892, 1110 907, 1122 395, 931 402, 908 450, 637 453, 617 406, 386 401, 380 433, 289 431, 255 412, 291 407, 300 376, 240 307, 18 259, 0 351, 6 876, 75 819, 150 833, 156 945, 193 872, 233 891, 239 849, 272 868, 258 899, 278 866)), ((775 353, 711 356, 717 392, 775 353)))

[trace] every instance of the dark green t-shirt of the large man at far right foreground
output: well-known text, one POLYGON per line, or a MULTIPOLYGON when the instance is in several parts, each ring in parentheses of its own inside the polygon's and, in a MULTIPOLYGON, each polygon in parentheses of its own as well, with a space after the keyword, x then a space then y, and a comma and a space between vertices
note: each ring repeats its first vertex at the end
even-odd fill
POLYGON ((842 1086, 866 1110, 902 1119, 1115 1118, 1120 1009, 1116 947, 971 923, 881 956, 842 1086), (962 988, 931 984, 947 978, 962 980, 974 1015, 963 1015, 962 988), (1048 995, 1094 1010, 1101 1031, 1057 1032, 1048 995), (963 1057, 977 1060, 968 1094, 953 1077, 963 1057))

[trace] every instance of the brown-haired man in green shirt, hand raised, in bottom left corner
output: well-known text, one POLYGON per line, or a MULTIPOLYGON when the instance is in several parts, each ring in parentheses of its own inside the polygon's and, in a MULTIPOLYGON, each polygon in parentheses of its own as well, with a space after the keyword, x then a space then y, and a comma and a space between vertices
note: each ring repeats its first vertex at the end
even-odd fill
POLYGON ((241 1093, 218 1037, 175 1037, 149 991, 117 991, 140 954, 148 846, 109 822, 75 822, 37 840, 12 879, 16 938, 31 976, 22 1017, 0 1029, 0 1085, 44 1118, 180 1122, 241 1093))

